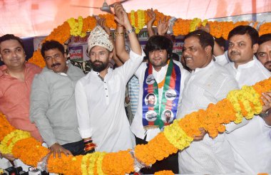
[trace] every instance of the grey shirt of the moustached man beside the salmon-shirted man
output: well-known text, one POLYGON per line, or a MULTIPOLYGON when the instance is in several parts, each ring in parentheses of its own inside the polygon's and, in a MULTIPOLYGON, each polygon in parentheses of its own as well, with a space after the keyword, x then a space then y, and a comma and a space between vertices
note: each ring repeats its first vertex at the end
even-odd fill
POLYGON ((44 68, 33 80, 30 120, 36 123, 48 147, 81 140, 74 89, 83 76, 81 69, 68 63, 66 74, 44 68))

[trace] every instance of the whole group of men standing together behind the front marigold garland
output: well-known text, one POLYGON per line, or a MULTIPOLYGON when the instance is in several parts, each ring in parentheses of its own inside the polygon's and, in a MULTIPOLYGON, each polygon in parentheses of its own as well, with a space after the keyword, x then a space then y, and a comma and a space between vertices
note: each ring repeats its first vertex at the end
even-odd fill
MULTIPOLYGON (((53 157, 118 152, 147 144, 173 120, 206 109, 230 90, 270 78, 271 33, 259 37, 255 28, 237 26, 228 35, 224 53, 225 43, 216 41, 208 28, 199 28, 185 36, 179 62, 173 60, 174 41, 165 34, 165 19, 160 19, 155 35, 156 16, 148 12, 150 38, 143 51, 123 6, 116 4, 114 12, 115 38, 104 19, 91 31, 88 55, 92 70, 87 75, 70 63, 58 41, 42 44, 46 67, 41 69, 27 63, 20 38, 12 34, 0 37, 4 62, 0 67, 0 111, 12 126, 44 142, 53 157), (129 53, 125 32, 131 43, 129 53), (111 59, 118 68, 108 66, 111 59), (131 124, 125 110, 129 101, 131 124)), ((252 120, 225 124, 226 132, 215 139, 200 128, 190 147, 141 172, 271 173, 271 92, 262 93, 262 101, 262 112, 252 120)), ((0 156, 19 161, 12 154, 0 156)))

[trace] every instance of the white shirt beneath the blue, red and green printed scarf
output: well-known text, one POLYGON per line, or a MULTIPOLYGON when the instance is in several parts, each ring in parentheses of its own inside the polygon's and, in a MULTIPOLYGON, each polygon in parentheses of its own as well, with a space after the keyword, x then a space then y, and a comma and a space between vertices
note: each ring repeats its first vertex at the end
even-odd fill
MULTIPOLYGON (((185 78, 188 76, 189 72, 183 68, 180 62, 174 61, 174 63, 180 67, 180 73, 181 73, 180 97, 179 97, 179 103, 178 103, 178 106, 180 106, 180 99, 182 98, 182 94, 183 94, 183 86, 184 86, 185 78)), ((146 141, 148 142, 150 141, 150 139, 153 139, 153 137, 155 137, 160 132, 160 129, 155 128, 155 129, 145 130, 143 127, 142 98, 143 98, 143 81, 144 81, 146 68, 147 68, 147 64, 141 63, 138 70, 136 70, 136 74, 135 74, 138 77, 138 81, 139 81, 139 95, 138 95, 138 109, 136 111, 135 117, 133 118, 133 122, 131 124, 131 130, 133 134, 135 134, 136 137, 140 139, 144 139, 144 137, 146 136, 146 141)), ((168 65, 163 66, 159 71, 156 71, 153 68, 153 76, 157 83, 160 83, 164 80, 167 70, 168 70, 168 65)), ((159 106, 161 106, 163 88, 158 89, 158 94, 159 94, 159 106)))

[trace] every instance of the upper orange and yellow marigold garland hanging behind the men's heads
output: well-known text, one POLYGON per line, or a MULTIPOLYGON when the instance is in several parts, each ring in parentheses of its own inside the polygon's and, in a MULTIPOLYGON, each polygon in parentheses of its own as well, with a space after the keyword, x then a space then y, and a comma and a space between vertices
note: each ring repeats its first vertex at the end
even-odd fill
MULTIPOLYGON (((131 13, 128 13, 128 18, 131 21, 132 26, 136 28, 136 33, 139 33, 143 26, 145 26, 146 23, 150 20, 147 11, 150 11, 150 9, 146 11, 131 11, 131 13)), ((154 13, 156 14, 156 18, 153 26, 158 26, 158 21, 160 19, 166 18, 166 20, 169 20, 171 18, 171 16, 165 16, 164 14, 158 12, 158 10, 156 9, 154 10, 154 13)), ((98 15, 98 17, 106 18, 106 25, 109 28, 116 29, 116 22, 114 21, 113 14, 101 14, 98 15)), ((201 21, 200 18, 194 18, 192 20, 177 18, 173 25, 173 34, 175 36, 185 36, 190 31, 195 31, 195 28, 197 26, 205 26, 206 23, 210 25, 210 34, 212 36, 215 36, 216 38, 223 37, 225 39, 227 39, 227 35, 232 30, 232 28, 235 28, 236 26, 251 24, 254 28, 257 28, 259 24, 258 22, 252 23, 250 21, 238 21, 236 23, 233 23, 207 20, 201 21)), ((95 26, 96 18, 93 16, 88 16, 86 18, 79 16, 78 19, 69 18, 61 26, 54 28, 50 35, 48 35, 44 39, 44 41, 55 40, 63 44, 71 36, 86 36, 86 32, 91 31, 95 26)), ((263 23, 258 31, 260 36, 265 33, 271 33, 271 23, 263 23)), ((29 63, 34 63, 36 65, 39 65, 41 68, 44 68, 45 62, 41 56, 41 51, 39 49, 34 52, 32 58, 29 59, 29 63)))

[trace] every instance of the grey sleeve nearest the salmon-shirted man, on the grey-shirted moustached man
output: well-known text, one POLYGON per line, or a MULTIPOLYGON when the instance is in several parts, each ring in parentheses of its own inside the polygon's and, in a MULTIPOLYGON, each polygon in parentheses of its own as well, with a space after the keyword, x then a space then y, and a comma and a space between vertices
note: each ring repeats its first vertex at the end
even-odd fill
POLYGON ((33 80, 30 99, 30 120, 36 123, 44 142, 46 142, 48 147, 51 147, 51 145, 57 141, 53 134, 50 121, 48 117, 46 117, 46 111, 48 110, 50 101, 50 92, 48 85, 46 85, 46 80, 39 75, 36 75, 33 80))

